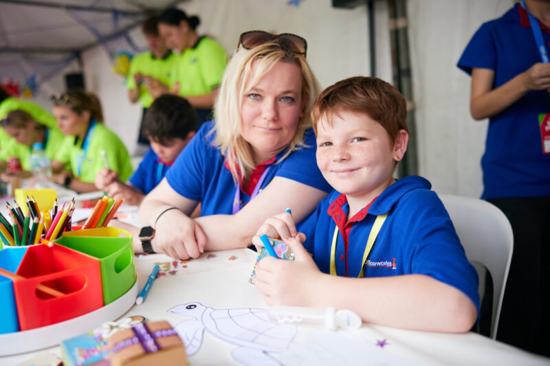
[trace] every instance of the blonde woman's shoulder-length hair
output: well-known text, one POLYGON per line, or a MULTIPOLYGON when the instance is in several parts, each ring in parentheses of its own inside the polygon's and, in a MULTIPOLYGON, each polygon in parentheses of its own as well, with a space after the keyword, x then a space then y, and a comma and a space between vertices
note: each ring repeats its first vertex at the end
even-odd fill
POLYGON ((294 62, 302 74, 303 117, 298 119, 296 134, 285 146, 283 161, 291 152, 305 146, 303 136, 311 127, 311 108, 319 93, 319 84, 303 55, 285 51, 276 42, 265 43, 253 49, 240 47, 232 56, 221 80, 219 95, 214 105, 215 124, 210 133, 215 133, 214 146, 228 160, 235 181, 249 177, 254 170, 252 148, 241 135, 241 106, 247 85, 254 87, 277 62, 294 62), (255 62, 257 60, 257 62, 255 62), (252 64, 256 73, 252 74, 252 64))

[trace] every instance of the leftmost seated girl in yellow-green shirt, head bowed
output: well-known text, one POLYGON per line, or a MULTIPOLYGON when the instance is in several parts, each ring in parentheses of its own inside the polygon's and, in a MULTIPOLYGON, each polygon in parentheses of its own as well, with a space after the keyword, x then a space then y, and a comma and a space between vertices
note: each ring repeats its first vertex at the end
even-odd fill
POLYGON ((59 128, 45 126, 37 122, 30 113, 19 110, 9 112, 1 120, 1 126, 14 140, 0 150, 0 170, 5 169, 8 159, 12 157, 21 161, 23 170, 31 170, 30 155, 36 143, 42 144, 56 169, 60 170, 65 165, 56 160, 59 146, 65 139, 59 128))

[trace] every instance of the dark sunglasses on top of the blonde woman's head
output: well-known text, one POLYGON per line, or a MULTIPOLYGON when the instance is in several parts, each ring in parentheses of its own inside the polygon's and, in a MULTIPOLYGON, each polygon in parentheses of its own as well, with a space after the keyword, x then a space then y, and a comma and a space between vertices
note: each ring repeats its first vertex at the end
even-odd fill
POLYGON ((237 48, 243 46, 244 49, 252 49, 270 42, 276 42, 281 46, 281 49, 304 55, 304 57, 307 52, 307 42, 304 38, 292 33, 272 34, 263 30, 251 30, 241 34, 237 48))

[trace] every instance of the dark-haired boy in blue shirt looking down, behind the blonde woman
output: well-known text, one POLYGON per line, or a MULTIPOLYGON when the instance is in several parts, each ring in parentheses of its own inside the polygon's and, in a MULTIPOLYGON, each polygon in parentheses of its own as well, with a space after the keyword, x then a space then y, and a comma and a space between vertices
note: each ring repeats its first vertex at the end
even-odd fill
POLYGON ((140 205, 146 194, 162 181, 179 153, 195 136, 195 108, 184 98, 164 94, 151 104, 143 120, 143 134, 151 141, 140 166, 129 181, 107 168, 96 176, 96 186, 110 197, 122 198, 129 205, 140 205))

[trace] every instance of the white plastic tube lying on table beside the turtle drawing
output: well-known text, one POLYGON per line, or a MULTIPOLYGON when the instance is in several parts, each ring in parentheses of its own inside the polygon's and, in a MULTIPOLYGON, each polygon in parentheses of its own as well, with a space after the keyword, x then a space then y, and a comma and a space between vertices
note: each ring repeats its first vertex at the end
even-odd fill
POLYGON ((305 323, 323 325, 329 330, 358 329, 362 320, 351 310, 327 308, 305 308, 302 306, 272 306, 267 310, 270 319, 279 323, 305 323))

